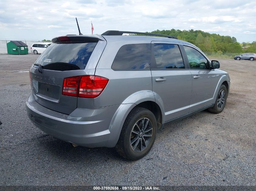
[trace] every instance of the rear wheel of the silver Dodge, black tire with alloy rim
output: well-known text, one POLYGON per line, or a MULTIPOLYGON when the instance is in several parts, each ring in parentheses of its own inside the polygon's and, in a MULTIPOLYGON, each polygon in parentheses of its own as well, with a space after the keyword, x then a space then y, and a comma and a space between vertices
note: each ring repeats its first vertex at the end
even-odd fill
POLYGON ((155 115, 145 108, 135 107, 125 119, 115 149, 124 158, 141 159, 152 148, 156 133, 155 115))

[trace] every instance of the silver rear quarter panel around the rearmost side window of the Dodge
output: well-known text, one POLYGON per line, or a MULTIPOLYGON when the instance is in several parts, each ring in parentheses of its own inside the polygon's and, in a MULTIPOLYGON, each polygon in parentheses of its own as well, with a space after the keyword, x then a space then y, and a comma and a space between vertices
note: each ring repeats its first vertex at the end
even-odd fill
MULTIPOLYGON (((151 38, 139 41, 136 40, 138 38, 131 38, 131 40, 122 40, 111 36, 106 38, 107 45, 98 62, 95 75, 108 78, 109 81, 101 95, 94 99, 94 106, 106 107, 117 104, 135 103, 136 100, 140 100, 141 102, 143 100, 146 101, 144 98, 148 98, 147 92, 152 92, 152 77, 150 69, 119 71, 111 69, 111 65, 121 46, 138 43, 150 44, 151 38), (108 39, 110 40, 108 41, 108 39), (145 91, 145 94, 141 93, 143 91, 145 91)), ((153 92, 152 95, 154 98, 153 92)), ((155 99, 153 100, 155 101, 155 99)))

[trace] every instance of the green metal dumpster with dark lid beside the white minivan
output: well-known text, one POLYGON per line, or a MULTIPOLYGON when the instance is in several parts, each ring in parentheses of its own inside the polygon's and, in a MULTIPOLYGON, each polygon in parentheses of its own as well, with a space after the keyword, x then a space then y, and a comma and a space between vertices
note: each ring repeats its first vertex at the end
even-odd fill
POLYGON ((11 40, 7 43, 8 54, 28 54, 28 45, 22 41, 11 40))

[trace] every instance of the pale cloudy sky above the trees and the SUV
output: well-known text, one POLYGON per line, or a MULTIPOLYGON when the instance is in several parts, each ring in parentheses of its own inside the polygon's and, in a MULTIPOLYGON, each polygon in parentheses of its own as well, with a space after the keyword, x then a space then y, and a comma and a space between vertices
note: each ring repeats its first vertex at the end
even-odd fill
POLYGON ((107 30, 202 30, 256 41, 253 0, 0 0, 0 40, 52 40, 107 30))

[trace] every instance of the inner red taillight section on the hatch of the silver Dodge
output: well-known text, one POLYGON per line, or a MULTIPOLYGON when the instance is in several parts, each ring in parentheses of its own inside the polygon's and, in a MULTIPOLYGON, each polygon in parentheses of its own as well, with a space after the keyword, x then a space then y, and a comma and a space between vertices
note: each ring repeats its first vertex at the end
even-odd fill
POLYGON ((62 95, 77 96, 80 76, 64 78, 62 95))

